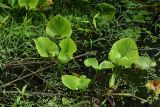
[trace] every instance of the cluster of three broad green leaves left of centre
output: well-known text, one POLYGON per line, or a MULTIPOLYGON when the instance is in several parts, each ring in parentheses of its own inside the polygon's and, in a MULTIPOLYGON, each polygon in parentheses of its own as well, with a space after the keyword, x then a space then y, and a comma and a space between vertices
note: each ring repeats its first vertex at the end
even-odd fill
POLYGON ((45 37, 39 37, 34 40, 38 53, 42 57, 54 57, 58 54, 58 59, 62 63, 67 63, 73 59, 73 53, 76 52, 77 46, 70 38, 72 33, 70 22, 63 16, 57 15, 48 22, 46 32, 52 38, 56 38, 56 36, 61 38, 60 51, 53 41, 45 37))

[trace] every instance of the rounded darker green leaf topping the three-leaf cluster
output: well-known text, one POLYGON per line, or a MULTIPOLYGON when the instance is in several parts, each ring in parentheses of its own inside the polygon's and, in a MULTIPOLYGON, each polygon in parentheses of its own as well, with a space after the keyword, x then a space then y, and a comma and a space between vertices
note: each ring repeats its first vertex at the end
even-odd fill
POLYGON ((57 15, 48 22, 46 32, 52 37, 60 36, 60 38, 64 38, 71 36, 72 28, 70 22, 65 17, 57 15))

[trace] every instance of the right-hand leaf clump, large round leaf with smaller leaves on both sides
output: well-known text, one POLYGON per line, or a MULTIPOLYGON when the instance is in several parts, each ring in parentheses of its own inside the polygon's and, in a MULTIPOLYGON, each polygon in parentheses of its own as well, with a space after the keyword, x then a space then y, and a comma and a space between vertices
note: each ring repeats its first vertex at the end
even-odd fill
POLYGON ((138 48, 134 40, 123 38, 115 42, 109 52, 110 61, 103 61, 98 65, 96 58, 88 58, 84 61, 86 67, 93 67, 96 70, 110 69, 117 66, 131 67, 135 64, 141 70, 148 70, 156 66, 156 62, 149 57, 139 56, 138 48))

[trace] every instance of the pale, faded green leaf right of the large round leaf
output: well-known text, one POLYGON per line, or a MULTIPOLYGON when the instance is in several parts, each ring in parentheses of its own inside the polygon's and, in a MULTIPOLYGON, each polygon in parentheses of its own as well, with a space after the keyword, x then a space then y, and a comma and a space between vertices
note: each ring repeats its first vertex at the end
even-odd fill
POLYGON ((152 61, 149 57, 139 56, 138 61, 135 63, 136 67, 142 70, 148 70, 156 66, 156 62, 152 61))

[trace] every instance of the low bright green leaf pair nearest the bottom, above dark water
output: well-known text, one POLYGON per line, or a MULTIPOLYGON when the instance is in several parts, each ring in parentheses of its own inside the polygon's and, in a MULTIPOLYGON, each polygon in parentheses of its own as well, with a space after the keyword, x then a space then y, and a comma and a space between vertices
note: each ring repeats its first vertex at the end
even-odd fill
POLYGON ((90 79, 88 79, 85 75, 81 75, 79 78, 73 75, 63 75, 62 83, 71 90, 85 90, 89 83, 90 79))

